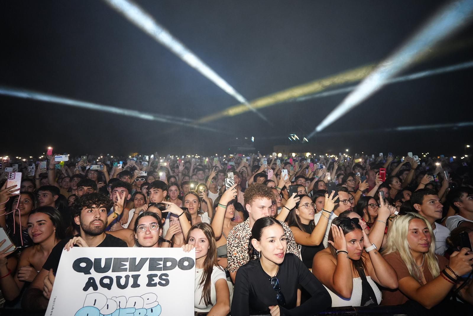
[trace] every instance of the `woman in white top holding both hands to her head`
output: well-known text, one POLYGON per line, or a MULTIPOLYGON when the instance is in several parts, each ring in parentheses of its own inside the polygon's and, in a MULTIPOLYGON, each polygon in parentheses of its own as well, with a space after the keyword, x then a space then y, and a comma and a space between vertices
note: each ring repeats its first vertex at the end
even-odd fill
POLYGON ((332 307, 379 305, 381 292, 375 282, 397 288, 396 272, 371 244, 358 218, 333 219, 328 242, 314 256, 312 273, 329 291, 332 307))

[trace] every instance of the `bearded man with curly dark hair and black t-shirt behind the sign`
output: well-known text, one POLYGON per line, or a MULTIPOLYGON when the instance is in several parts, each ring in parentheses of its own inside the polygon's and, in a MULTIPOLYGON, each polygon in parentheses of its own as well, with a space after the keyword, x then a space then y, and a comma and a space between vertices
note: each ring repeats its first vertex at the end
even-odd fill
MULTIPOLYGON (((122 201, 123 202, 123 201, 122 201)), ((30 287, 25 291, 22 307, 26 311, 39 311, 48 307, 54 278, 64 248, 80 247, 126 247, 127 244, 117 237, 105 234, 107 212, 112 201, 101 193, 84 194, 75 199, 72 205, 74 222, 79 225, 80 234, 62 239, 54 246, 51 254, 36 275, 30 287)))

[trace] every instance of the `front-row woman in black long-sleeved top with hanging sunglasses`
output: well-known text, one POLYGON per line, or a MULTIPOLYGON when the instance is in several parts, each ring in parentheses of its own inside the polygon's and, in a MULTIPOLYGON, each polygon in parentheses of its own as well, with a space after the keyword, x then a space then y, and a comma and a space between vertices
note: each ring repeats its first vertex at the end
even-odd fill
POLYGON ((315 315, 329 307, 330 295, 307 267, 293 254, 286 254, 287 242, 276 219, 256 220, 251 230, 250 258, 259 259, 241 266, 236 272, 231 315, 248 316, 250 311, 271 315, 315 315), (301 285, 311 295, 297 306, 301 285))

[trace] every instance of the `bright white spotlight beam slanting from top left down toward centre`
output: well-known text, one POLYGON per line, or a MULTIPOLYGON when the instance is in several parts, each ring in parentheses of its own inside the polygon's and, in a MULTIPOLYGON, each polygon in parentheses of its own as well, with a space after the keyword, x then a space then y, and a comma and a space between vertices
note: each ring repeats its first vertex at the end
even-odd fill
POLYGON ((153 37, 158 43, 165 46, 189 66, 199 71, 203 76, 216 84, 223 91, 234 97, 238 102, 244 104, 248 109, 258 114, 264 121, 270 123, 268 119, 257 111, 250 103, 239 94, 235 88, 221 78, 214 70, 197 57, 190 49, 175 38, 166 28, 158 22, 144 9, 130 0, 104 0, 107 5, 127 18, 132 24, 139 27, 145 33, 153 37))

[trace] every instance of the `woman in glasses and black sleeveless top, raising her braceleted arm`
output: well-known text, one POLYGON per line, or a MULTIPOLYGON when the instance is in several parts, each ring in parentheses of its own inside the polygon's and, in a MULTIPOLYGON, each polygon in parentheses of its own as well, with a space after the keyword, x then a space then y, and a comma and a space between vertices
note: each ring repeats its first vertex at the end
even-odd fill
POLYGON ((325 249, 322 244, 325 230, 327 229, 328 219, 334 208, 333 193, 331 197, 324 198, 327 202, 326 210, 321 213, 317 225, 314 223, 315 204, 307 195, 297 195, 300 198, 296 202, 296 207, 289 212, 288 226, 291 228, 296 243, 300 245, 300 254, 302 262, 307 268, 312 268, 312 260, 317 252, 325 249))

